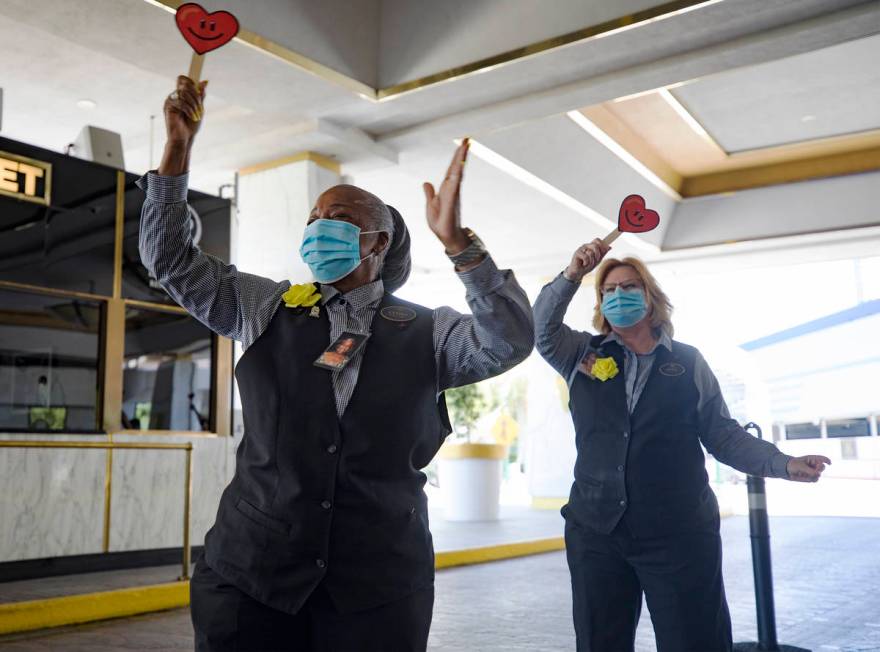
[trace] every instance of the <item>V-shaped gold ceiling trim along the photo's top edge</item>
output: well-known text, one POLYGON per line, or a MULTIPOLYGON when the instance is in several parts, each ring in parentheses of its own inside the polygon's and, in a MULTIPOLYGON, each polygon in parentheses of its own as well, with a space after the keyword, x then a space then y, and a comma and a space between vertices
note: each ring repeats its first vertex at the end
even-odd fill
MULTIPOLYGON (((184 0, 144 1, 170 12, 177 11, 177 8, 184 3, 184 0)), ((488 70, 498 68, 514 61, 533 57, 551 50, 586 42, 595 38, 609 36, 615 32, 638 27, 644 23, 664 20, 678 14, 692 11, 702 5, 711 5, 718 2, 723 2, 723 0, 673 0, 672 2, 664 2, 656 7, 637 11, 626 16, 620 16, 619 18, 614 18, 612 20, 606 20, 597 23, 596 25, 590 25, 567 34, 562 34, 561 36, 554 36, 521 48, 508 50, 501 54, 479 59, 462 66, 456 66, 431 75, 419 77, 418 79, 387 86, 385 88, 373 88, 369 84, 365 84, 364 82, 349 77, 329 66, 318 63, 304 54, 291 50, 280 43, 272 41, 271 39, 248 29, 241 28, 238 35, 233 40, 268 54, 275 59, 294 66, 295 68, 304 70, 305 72, 315 75, 325 81, 341 86, 364 99, 372 102, 379 102, 387 101, 405 93, 411 93, 429 86, 434 86, 435 84, 459 79, 468 75, 487 72, 488 70)))

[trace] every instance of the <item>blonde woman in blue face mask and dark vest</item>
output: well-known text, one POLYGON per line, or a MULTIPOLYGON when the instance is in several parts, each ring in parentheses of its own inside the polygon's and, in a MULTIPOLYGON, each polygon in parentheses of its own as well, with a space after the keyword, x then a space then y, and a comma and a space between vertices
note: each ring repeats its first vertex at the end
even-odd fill
POLYGON ((640 260, 599 267, 597 335, 565 326, 581 280, 608 250, 598 239, 579 247, 534 308, 538 352, 568 381, 576 432, 562 514, 577 649, 632 650, 644 593, 658 650, 730 650, 702 446, 744 473, 803 482, 831 461, 785 455, 730 418, 700 352, 672 339, 672 304, 640 260))

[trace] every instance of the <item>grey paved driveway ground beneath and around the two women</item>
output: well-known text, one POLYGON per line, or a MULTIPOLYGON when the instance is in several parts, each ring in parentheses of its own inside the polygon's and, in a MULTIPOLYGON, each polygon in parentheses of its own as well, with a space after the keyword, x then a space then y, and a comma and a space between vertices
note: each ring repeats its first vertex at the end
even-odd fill
MULTIPOLYGON (((880 651, 880 520, 783 517, 771 523, 779 640, 815 652, 880 651)), ((722 521, 736 640, 754 640, 748 522, 722 521)), ((549 553, 437 573, 430 650, 573 650, 568 570, 549 553)), ((191 650, 186 610, 2 639, 10 652, 191 650)), ((636 649, 653 650, 643 611, 636 649)))

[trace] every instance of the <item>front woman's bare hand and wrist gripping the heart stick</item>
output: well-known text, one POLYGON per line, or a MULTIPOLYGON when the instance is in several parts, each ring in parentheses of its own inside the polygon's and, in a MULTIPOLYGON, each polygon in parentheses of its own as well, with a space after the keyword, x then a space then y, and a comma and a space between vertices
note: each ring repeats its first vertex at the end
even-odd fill
POLYGON ((159 163, 158 173, 163 176, 177 176, 189 170, 189 155, 193 140, 202 126, 205 108, 207 81, 196 84, 192 79, 181 75, 177 78, 177 88, 165 98, 165 151, 159 163))

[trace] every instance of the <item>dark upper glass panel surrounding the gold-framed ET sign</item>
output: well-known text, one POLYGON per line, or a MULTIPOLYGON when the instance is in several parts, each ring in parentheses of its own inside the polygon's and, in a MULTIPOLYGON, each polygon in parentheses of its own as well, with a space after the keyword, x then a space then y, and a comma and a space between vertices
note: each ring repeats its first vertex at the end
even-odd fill
POLYGON ((49 206, 0 195, 0 280, 112 294, 116 170, 4 138, 0 151, 52 165, 49 206))

